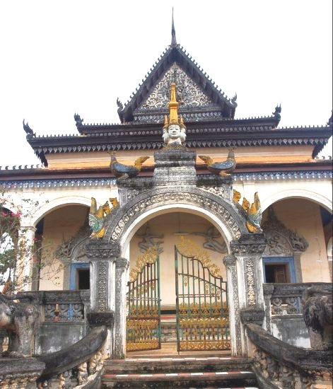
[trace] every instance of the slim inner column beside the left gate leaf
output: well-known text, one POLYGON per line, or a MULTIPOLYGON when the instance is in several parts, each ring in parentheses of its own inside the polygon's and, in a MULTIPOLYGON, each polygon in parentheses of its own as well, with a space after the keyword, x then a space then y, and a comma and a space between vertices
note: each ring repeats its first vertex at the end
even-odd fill
POLYGON ((117 258, 115 277, 115 342, 112 358, 122 359, 126 354, 126 293, 129 260, 117 258))

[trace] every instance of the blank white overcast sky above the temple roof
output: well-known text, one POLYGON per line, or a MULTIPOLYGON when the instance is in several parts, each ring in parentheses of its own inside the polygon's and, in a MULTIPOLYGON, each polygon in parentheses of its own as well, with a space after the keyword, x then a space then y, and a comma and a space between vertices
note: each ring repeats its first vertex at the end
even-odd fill
POLYGON ((280 127, 326 124, 332 0, 1 1, 0 166, 40 163, 23 119, 37 136, 77 134, 75 112, 119 122, 117 98, 126 103, 170 45, 173 6, 177 42, 237 93, 235 117, 281 103, 280 127))

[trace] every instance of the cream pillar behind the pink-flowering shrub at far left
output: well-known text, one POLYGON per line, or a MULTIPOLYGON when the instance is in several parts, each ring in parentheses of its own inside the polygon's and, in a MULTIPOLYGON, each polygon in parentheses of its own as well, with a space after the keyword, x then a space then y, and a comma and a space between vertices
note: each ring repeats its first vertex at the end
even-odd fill
POLYGON ((18 291, 30 291, 33 281, 33 261, 35 245, 35 226, 24 225, 18 231, 17 265, 15 269, 15 284, 18 291))

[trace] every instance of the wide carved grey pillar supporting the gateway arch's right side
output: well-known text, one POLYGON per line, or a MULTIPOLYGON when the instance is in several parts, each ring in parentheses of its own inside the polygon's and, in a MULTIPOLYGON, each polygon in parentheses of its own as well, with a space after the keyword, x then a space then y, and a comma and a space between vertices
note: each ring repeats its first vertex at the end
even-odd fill
POLYGON ((240 331, 242 352, 243 355, 247 355, 249 350, 244 326, 250 323, 264 324, 262 253, 266 247, 266 240, 262 233, 246 234, 239 240, 233 240, 230 247, 236 260, 240 322, 243 327, 240 331))

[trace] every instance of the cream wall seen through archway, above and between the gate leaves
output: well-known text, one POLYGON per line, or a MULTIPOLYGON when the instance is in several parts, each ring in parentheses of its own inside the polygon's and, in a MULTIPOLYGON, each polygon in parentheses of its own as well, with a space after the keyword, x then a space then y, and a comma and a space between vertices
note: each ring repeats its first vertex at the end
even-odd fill
MULTIPOLYGON (((180 243, 181 236, 175 236, 174 233, 188 233, 183 236, 196 243, 201 250, 204 250, 203 243, 206 241, 204 236, 197 236, 195 233, 205 234, 211 223, 204 218, 194 214, 185 214, 182 212, 172 212, 156 216, 148 221, 152 235, 163 235, 163 238, 155 238, 161 240, 160 248, 163 252, 160 253, 160 298, 161 306, 175 306, 175 245, 180 243)), ((146 232, 146 225, 139 228, 130 243, 130 263, 129 269, 135 267, 136 258, 141 254, 139 251, 139 243, 143 240, 140 235, 146 232)), ((214 234, 218 235, 216 229, 214 234)), ((223 238, 216 238, 218 242, 223 243, 223 238)), ((222 259, 226 252, 220 253, 213 250, 207 250, 211 262, 216 264, 221 270, 223 279, 226 280, 226 268, 223 265, 222 259)))

